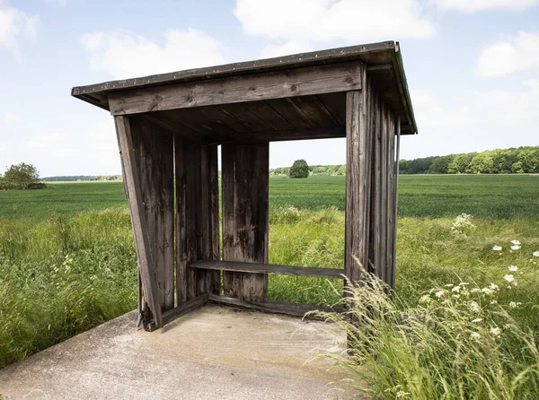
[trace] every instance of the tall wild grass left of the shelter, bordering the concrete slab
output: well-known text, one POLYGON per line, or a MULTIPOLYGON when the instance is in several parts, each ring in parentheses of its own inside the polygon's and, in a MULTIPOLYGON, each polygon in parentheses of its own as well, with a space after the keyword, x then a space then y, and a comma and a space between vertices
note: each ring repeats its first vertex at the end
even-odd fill
POLYGON ((125 209, 0 220, 0 368, 137 305, 125 209))

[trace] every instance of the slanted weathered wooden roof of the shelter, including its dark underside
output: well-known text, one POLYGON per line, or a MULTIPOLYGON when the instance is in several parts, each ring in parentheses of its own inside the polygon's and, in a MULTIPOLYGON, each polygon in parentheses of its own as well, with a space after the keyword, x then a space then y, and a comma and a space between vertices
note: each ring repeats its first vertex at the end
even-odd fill
MULTIPOLYGON (((248 100, 230 100, 228 93, 233 90, 227 88, 234 89, 234 83, 249 82, 255 77, 264 77, 266 82, 282 86, 300 71, 319 79, 318 75, 323 75, 328 68, 350 72, 354 61, 365 63, 375 91, 399 113, 401 133, 417 134, 399 43, 393 41, 79 86, 73 88, 71 94, 115 115, 144 113, 181 135, 208 143, 251 140, 252 137, 270 141, 341 137, 345 132, 344 92, 359 86, 351 78, 342 81, 343 87, 335 91, 328 85, 326 92, 309 91, 307 78, 305 86, 292 85, 291 90, 297 90, 297 96, 291 97, 288 93, 266 96, 263 100, 259 100, 258 88, 254 87, 249 87, 252 97, 248 100), (199 104, 198 98, 203 96, 192 93, 202 83, 207 86, 215 83, 221 90, 213 93, 209 100, 206 96, 207 101, 199 104), (167 103, 166 93, 170 95, 178 89, 183 89, 187 95, 181 99, 176 95, 174 101, 167 103), (152 100, 157 100, 149 105, 137 103, 136 100, 148 92, 154 96, 152 100), (124 96, 135 100, 129 103, 124 96)), ((268 87, 264 90, 268 91, 268 87)), ((249 94, 243 93, 243 97, 249 94)))

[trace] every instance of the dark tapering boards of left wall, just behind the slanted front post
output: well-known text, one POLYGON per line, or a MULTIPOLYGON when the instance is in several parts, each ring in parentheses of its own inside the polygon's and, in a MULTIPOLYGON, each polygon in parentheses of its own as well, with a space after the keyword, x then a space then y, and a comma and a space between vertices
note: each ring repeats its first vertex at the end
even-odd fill
POLYGON ((155 265, 161 309, 174 307, 174 171, 173 135, 144 117, 129 120, 138 185, 155 265))

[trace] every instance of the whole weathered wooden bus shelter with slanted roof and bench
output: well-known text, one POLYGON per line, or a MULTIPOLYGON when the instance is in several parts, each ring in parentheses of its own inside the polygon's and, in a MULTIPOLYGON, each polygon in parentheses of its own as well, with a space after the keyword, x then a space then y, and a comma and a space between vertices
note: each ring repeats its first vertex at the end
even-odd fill
POLYGON ((393 287, 400 136, 417 133, 398 42, 81 86, 72 95, 114 117, 146 329, 208 301, 303 315, 306 306, 266 300, 268 274, 344 273, 354 282, 365 267, 393 287), (268 264, 269 143, 335 137, 347 146, 344 270, 268 264))

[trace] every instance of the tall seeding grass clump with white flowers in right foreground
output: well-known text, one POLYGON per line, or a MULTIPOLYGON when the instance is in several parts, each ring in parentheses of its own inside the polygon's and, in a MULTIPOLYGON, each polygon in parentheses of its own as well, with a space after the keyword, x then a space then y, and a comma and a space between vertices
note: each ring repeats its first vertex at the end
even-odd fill
POLYGON ((349 312, 318 314, 346 330, 349 357, 336 360, 373 398, 539 398, 535 336, 511 316, 516 302, 499 301, 500 287, 509 291, 446 284, 418 305, 364 274, 347 288, 349 312))

